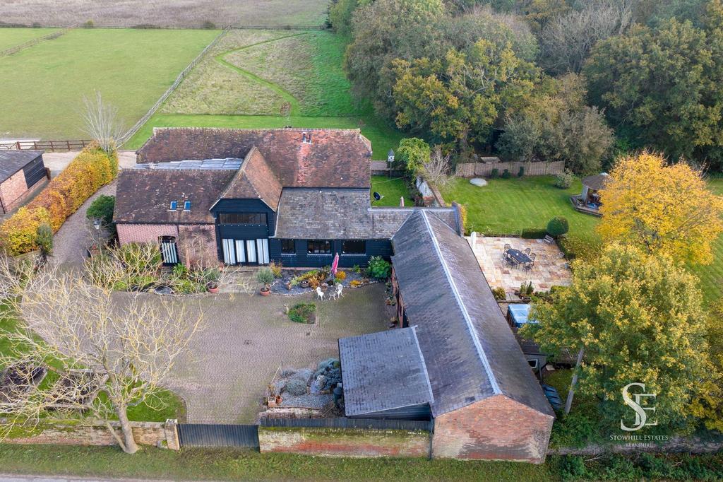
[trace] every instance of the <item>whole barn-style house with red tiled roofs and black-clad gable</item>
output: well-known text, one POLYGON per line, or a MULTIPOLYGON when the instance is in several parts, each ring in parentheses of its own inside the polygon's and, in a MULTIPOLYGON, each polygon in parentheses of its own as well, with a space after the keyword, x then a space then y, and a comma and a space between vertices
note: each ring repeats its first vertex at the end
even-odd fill
MULTIPOLYGON (((119 240, 159 242, 167 264, 389 258, 416 209, 371 206, 371 155, 359 130, 156 129, 119 174, 119 240)), ((456 208, 430 211, 461 229, 456 208)))

